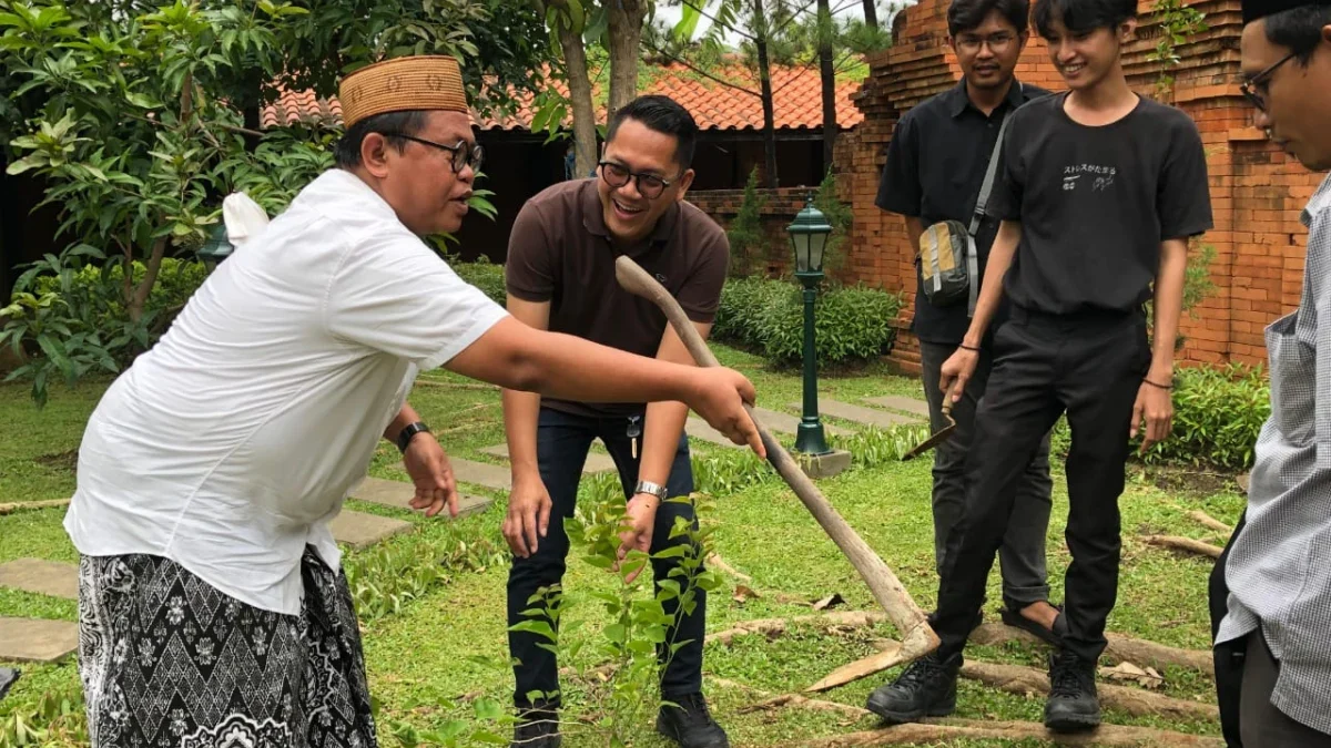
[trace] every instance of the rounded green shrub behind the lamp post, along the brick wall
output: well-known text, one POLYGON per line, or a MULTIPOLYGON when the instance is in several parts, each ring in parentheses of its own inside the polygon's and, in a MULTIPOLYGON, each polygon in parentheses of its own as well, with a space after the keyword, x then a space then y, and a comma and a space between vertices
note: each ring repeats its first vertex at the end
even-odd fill
MULTIPOLYGON (((779 297, 761 313, 763 349, 769 362, 797 363, 804 355, 801 290, 779 297)), ((819 366, 869 361, 890 349, 890 322, 901 297, 878 289, 843 287, 820 293, 815 303, 815 351, 819 366)))

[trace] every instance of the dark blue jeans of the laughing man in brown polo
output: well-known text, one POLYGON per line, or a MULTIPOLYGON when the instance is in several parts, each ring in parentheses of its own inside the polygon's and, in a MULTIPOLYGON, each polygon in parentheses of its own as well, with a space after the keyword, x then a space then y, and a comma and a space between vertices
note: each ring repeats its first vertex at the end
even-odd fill
MULTIPOLYGON (((643 421, 639 426, 644 427, 643 421)), ((578 502, 578 482, 587 462, 587 450, 594 439, 600 439, 619 468, 619 479, 626 500, 632 496, 638 484, 638 458, 634 457, 628 439, 627 418, 590 418, 571 415, 548 407, 540 409, 536 429, 536 462, 540 466, 540 479, 546 483, 550 500, 550 528, 544 538, 538 538, 536 552, 530 558, 514 558, 508 572, 508 626, 526 620, 522 611, 528 608, 527 600, 542 587, 559 584, 564 576, 568 556, 568 535, 564 532, 564 518, 574 515, 578 502)), ((642 454, 642 438, 638 441, 642 454)), ((688 455, 688 437, 680 435, 675 463, 666 482, 669 498, 687 496, 693 492, 693 466, 688 455)), ((692 503, 662 503, 656 510, 656 524, 652 528, 654 554, 669 546, 685 543, 687 538, 671 539, 669 531, 675 518, 681 516, 695 527, 697 519, 692 503)), ((658 583, 668 579, 669 571, 679 564, 677 558, 652 562, 652 575, 658 583)), ((676 627, 667 632, 667 642, 688 642, 666 664, 662 679, 662 696, 676 699, 703 689, 703 638, 707 634, 707 594, 696 591, 697 606, 692 615, 683 615, 676 627)), ((664 604, 667 615, 675 615, 677 600, 664 604)), ((527 632, 508 632, 508 650, 518 660, 514 664, 516 688, 514 704, 519 709, 532 704, 527 693, 542 691, 551 693, 559 689, 559 664, 555 654, 538 647, 544 639, 527 632)), ((662 648, 666 657, 668 650, 662 648)), ((558 701, 558 699, 555 700, 558 701)))

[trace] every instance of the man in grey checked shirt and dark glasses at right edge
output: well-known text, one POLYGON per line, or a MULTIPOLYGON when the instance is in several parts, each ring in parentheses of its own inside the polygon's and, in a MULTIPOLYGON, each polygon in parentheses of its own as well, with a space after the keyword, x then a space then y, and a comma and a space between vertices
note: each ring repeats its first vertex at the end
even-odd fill
MULTIPOLYGON (((1331 0, 1243 0, 1243 23, 1242 91, 1256 126, 1308 169, 1331 170, 1331 0)), ((1271 418, 1215 636, 1246 652, 1236 715, 1227 709, 1246 748, 1331 747, 1331 177, 1302 221, 1303 297, 1266 330, 1271 418)))

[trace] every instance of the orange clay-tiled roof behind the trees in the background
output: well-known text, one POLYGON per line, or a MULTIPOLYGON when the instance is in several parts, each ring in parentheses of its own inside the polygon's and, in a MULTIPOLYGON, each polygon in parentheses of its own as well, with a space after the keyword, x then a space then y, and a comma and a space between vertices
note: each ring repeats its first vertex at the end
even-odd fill
MULTIPOLYGON (((728 68, 720 72, 711 71, 713 76, 733 85, 749 91, 759 91, 757 77, 741 67, 728 68)), ((562 93, 567 89, 562 83, 555 84, 562 93)), ((836 92, 837 125, 843 129, 852 128, 864 118, 864 113, 851 101, 860 88, 857 81, 840 81, 836 92)), ((773 68, 772 69, 772 105, 776 114, 776 126, 781 128, 821 128, 823 126, 823 84, 819 71, 811 68, 773 68)), ((679 101, 697 120, 701 129, 741 130, 763 129, 763 102, 756 96, 736 91, 713 80, 689 71, 677 64, 669 67, 650 68, 642 76, 639 93, 663 93, 679 101)), ((516 130, 527 129, 531 125, 531 94, 520 97, 522 105, 516 114, 507 117, 478 118, 482 129, 516 130)), ((602 110, 603 112, 603 110, 602 110)), ((291 124, 302 118, 341 122, 342 106, 337 98, 318 98, 313 92, 284 91, 277 102, 264 109, 264 126, 274 126, 278 122, 291 124)), ((566 121, 571 125, 571 121, 566 121)))

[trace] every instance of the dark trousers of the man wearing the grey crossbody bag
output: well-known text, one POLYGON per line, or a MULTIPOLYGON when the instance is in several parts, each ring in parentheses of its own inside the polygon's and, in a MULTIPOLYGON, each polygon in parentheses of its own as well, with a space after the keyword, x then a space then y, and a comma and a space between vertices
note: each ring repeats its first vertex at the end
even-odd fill
MULTIPOLYGON (((924 394, 929 402, 929 422, 934 431, 942 430, 944 393, 938 389, 942 365, 957 346, 920 341, 920 365, 924 394)), ((980 366, 966 382, 961 399, 952 406, 952 419, 957 422, 952 438, 933 450, 933 552, 934 568, 942 574, 946 566, 948 535, 966 511, 966 455, 974 445, 976 409, 989 385, 993 354, 980 354, 980 366)), ((1017 486, 1012 523, 1004 535, 998 560, 1002 568, 1004 603, 1021 610, 1032 603, 1049 600, 1049 579, 1045 571, 1045 535, 1049 532, 1050 494, 1054 483, 1049 478, 1049 435, 1040 442, 1036 457, 1026 465, 1017 486)))

